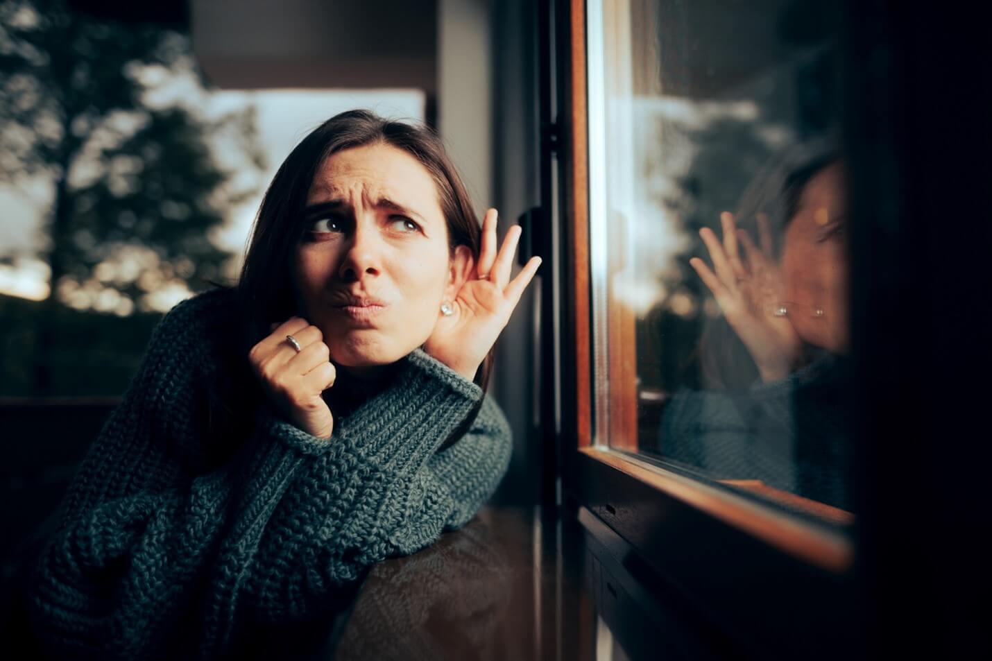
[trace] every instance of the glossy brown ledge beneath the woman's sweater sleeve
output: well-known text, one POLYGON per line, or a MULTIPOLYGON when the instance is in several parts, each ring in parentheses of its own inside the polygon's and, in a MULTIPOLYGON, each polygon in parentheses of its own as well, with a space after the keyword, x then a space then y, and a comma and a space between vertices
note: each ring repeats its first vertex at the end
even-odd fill
POLYGON ((533 512, 487 507, 429 549, 376 566, 333 658, 591 659, 581 557, 560 562, 533 512))

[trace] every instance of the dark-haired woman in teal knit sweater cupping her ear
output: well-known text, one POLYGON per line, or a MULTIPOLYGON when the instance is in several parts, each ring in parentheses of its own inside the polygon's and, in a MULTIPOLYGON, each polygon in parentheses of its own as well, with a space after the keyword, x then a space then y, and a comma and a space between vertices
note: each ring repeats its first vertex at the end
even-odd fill
POLYGON ((310 133, 238 287, 166 316, 75 476, 32 595, 43 644, 221 654, 468 521, 509 461, 483 387, 539 265, 510 279, 518 238, 497 252, 428 130, 352 111, 310 133))

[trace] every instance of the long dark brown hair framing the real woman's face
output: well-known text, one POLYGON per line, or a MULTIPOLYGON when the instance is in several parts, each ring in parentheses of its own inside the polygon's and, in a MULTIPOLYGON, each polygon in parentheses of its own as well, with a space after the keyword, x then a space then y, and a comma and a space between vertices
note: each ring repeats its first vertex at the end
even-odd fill
MULTIPOLYGON (((292 271, 297 245, 306 229, 303 210, 320 165, 331 154, 375 143, 402 149, 427 168, 437 187, 452 254, 457 246, 464 245, 478 263, 482 228, 465 185, 434 131, 384 119, 368 110, 342 112, 296 146, 262 200, 238 283, 242 310, 249 322, 249 346, 268 334, 272 323, 284 322, 297 312, 292 271)), ((492 358, 490 350, 475 376, 483 390, 488 385, 492 358)))

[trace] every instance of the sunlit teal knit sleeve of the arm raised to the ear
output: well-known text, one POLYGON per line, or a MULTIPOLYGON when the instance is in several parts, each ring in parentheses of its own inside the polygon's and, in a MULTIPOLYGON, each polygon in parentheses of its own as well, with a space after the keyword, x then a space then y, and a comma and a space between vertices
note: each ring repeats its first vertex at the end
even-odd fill
POLYGON ((253 616, 305 616, 364 567, 422 549, 471 519, 511 450, 509 425, 489 398, 468 432, 444 444, 480 397, 476 385, 417 351, 392 388, 341 421, 266 530, 244 595, 253 616))

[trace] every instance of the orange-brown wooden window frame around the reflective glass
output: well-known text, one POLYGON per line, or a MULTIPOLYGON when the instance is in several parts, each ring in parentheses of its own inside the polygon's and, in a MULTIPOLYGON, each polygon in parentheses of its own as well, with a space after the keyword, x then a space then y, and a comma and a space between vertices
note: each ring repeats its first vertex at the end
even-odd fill
MULTIPOLYGON (((580 521, 593 517, 608 526, 645 566, 745 648, 799 654, 808 652, 810 640, 829 639, 820 652, 849 649, 859 635, 851 604, 857 602, 860 587, 851 538, 829 525, 653 465, 623 448, 593 443, 585 20, 584 0, 558 4, 559 263, 565 302, 559 325, 564 356, 559 444, 566 508, 580 521), (761 607, 754 607, 756 603, 761 607)), ((611 311, 610 332, 632 331, 633 320, 622 313, 611 311)), ((633 357, 623 353, 633 345, 610 342, 611 364, 617 361, 636 371, 636 363, 628 364, 633 357)), ((636 397, 631 399, 630 388, 614 389, 612 375, 610 389, 611 414, 618 412, 611 415, 611 436, 616 438, 617 432, 631 438, 623 433, 631 418, 624 412, 630 413, 636 397)), ((591 533, 596 526, 586 527, 591 533)))

